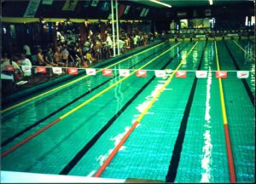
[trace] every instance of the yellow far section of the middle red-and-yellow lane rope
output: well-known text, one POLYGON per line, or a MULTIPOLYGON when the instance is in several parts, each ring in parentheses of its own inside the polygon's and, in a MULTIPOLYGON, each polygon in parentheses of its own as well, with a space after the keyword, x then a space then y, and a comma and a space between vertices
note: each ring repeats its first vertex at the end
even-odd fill
POLYGON ((164 83, 164 85, 160 88, 159 92, 154 96, 154 98, 149 102, 148 106, 145 108, 145 110, 141 113, 141 115, 137 118, 137 121, 140 122, 143 117, 145 116, 145 114, 148 112, 148 110, 151 108, 151 106, 154 104, 154 101, 157 100, 157 98, 160 96, 160 94, 162 93, 162 91, 164 89, 166 89, 166 86, 171 83, 173 76, 175 75, 175 73, 177 72, 177 70, 180 68, 180 66, 183 65, 183 62, 187 59, 187 57, 189 56, 189 54, 192 52, 192 50, 195 48, 196 44, 198 42, 196 42, 194 44, 194 46, 192 47, 192 49, 189 50, 189 53, 183 58, 183 60, 181 61, 181 63, 177 66, 177 68, 175 69, 175 71, 172 72, 172 75, 168 78, 168 80, 166 80, 166 83, 164 83))

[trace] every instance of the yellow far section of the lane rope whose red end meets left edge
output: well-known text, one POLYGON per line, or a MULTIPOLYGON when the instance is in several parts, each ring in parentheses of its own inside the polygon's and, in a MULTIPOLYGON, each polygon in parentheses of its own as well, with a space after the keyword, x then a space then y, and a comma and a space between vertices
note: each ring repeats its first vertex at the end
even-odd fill
MULTIPOLYGON (((154 60, 160 58, 160 56, 165 55, 166 52, 170 51, 171 49, 177 47, 177 45, 180 43, 177 43, 176 45, 172 46, 172 48, 167 49, 165 52, 163 52, 162 54, 156 56, 154 59, 148 61, 148 63, 146 63, 145 65, 141 66, 140 68, 138 68, 137 70, 141 70, 143 69, 143 67, 148 66, 149 64, 151 64, 154 60)), ((85 106, 86 104, 90 103, 90 101, 95 100, 97 97, 103 95, 104 93, 106 93, 109 89, 112 89, 114 86, 116 86, 119 83, 122 83, 125 79, 131 77, 131 75, 133 75, 134 73, 136 73, 137 71, 131 72, 129 76, 126 76, 125 78, 120 79, 118 82, 113 83, 112 85, 108 86, 108 88, 103 89, 101 92, 99 92, 98 94, 92 96, 90 99, 88 99, 87 101, 84 101, 82 104, 80 104, 79 106, 76 106, 75 108, 73 108, 73 110, 71 110, 70 112, 67 112, 66 114, 64 114, 63 116, 61 116, 60 119, 63 118, 67 118, 67 116, 69 116, 70 114, 72 114, 73 112, 76 112, 77 110, 79 110, 79 108, 85 106)))

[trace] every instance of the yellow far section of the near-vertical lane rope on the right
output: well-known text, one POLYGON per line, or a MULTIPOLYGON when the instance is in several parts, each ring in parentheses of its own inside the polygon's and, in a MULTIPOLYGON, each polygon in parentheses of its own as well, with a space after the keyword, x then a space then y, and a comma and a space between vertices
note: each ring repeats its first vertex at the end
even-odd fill
MULTIPOLYGON (((215 55, 216 55, 216 62, 217 62, 217 70, 219 71, 220 68, 219 68, 219 63, 218 63, 218 49, 217 49, 216 41, 214 43, 215 43, 215 55)), ((221 78, 218 78, 218 85, 219 85, 219 94, 220 94, 221 109, 222 109, 222 115, 223 115, 223 123, 228 124, 221 78)))

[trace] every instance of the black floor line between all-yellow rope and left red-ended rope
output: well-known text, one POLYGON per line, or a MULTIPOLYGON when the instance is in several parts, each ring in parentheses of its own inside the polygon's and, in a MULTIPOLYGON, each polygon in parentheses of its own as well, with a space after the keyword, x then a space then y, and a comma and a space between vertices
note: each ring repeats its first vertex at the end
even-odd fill
MULTIPOLYGON (((164 49, 166 49, 167 47, 169 47, 169 45, 167 45, 164 49)), ((158 52, 161 52, 162 50, 156 51, 154 52, 152 55, 155 55, 158 52)), ((139 65, 140 63, 142 63, 144 60, 147 60, 149 57, 152 57, 152 55, 148 55, 146 58, 144 58, 143 60, 137 62, 135 65, 131 66, 129 69, 131 69, 134 66, 139 65)), ((113 78, 117 78, 119 76, 119 74, 117 74, 116 76, 114 76, 113 78)), ((28 126, 26 129, 21 130, 20 132, 16 133, 15 135, 9 137, 9 139, 7 139, 6 141, 3 141, 1 143, 1 147, 5 147, 6 145, 8 145, 10 142, 14 141, 15 138, 19 137, 20 135, 25 134, 27 131, 29 131, 30 129, 36 127, 38 124, 41 124, 42 122, 44 122, 45 120, 47 120, 48 118, 54 116, 56 113, 61 112, 63 109, 67 108, 67 106, 72 105, 74 102, 79 101, 79 99, 83 98, 86 95, 89 95, 91 92, 95 91, 96 89, 99 89, 100 87, 102 87, 102 85, 108 83, 110 80, 112 80, 113 78, 109 78, 108 80, 104 81, 103 83, 97 85, 96 87, 86 91, 83 95, 80 95, 79 97, 75 98, 73 101, 68 102, 67 104, 65 104, 64 106, 61 106, 59 109, 55 110, 54 112, 51 112, 49 115, 47 115, 46 117, 38 120, 36 123, 28 126)))

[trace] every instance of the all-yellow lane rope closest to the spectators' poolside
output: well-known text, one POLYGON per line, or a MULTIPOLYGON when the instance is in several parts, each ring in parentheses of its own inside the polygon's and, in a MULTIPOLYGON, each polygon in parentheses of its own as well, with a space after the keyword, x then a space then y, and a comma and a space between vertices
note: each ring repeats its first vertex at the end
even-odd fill
MULTIPOLYGON (((144 52, 148 51, 149 49, 154 49, 155 47, 158 47, 158 46, 160 46, 160 45, 162 45, 162 44, 164 44, 164 43, 160 43, 160 44, 154 45, 154 47, 145 49, 145 50, 143 50, 142 52, 137 53, 136 55, 143 54, 144 52)), ((124 62, 125 60, 128 60, 128 59, 130 59, 130 58, 132 58, 132 57, 134 57, 134 56, 136 56, 136 55, 131 55, 131 56, 129 56, 129 57, 123 59, 123 60, 120 60, 120 61, 117 62, 117 63, 113 63, 112 65, 110 65, 110 66, 108 66, 108 67, 105 67, 104 69, 110 68, 110 67, 112 67, 112 66, 116 66, 116 65, 118 65, 119 63, 124 62)), ((99 71, 97 71, 97 72, 102 72, 102 70, 103 70, 103 69, 101 69, 101 70, 99 70, 99 71)), ((84 68, 84 71, 85 71, 85 68, 84 68)), ((49 93, 51 93, 51 92, 54 92, 55 90, 64 88, 64 87, 66 87, 67 85, 70 85, 70 84, 73 84, 73 83, 77 83, 77 82, 79 82, 80 80, 83 80, 84 78, 89 78, 89 77, 90 77, 90 75, 85 75, 85 76, 82 77, 82 78, 78 78, 78 79, 75 79, 75 80, 73 80, 73 81, 71 81, 71 82, 69 82, 69 83, 65 83, 65 84, 63 84, 63 85, 61 85, 61 86, 59 86, 59 87, 57 87, 57 88, 55 88, 55 89, 50 89, 49 91, 46 91, 46 92, 44 92, 43 94, 36 95, 36 96, 34 96, 34 97, 30 98, 30 99, 27 99, 26 101, 22 101, 22 102, 20 102, 20 103, 18 103, 18 104, 15 104, 14 106, 9 106, 8 108, 4 109, 4 110, 1 111, 1 112, 2 112, 2 113, 3 113, 3 112, 7 112, 7 111, 9 111, 9 110, 11 110, 11 109, 14 109, 15 107, 22 106, 22 105, 24 105, 24 104, 26 104, 26 103, 28 103, 28 102, 30 102, 30 101, 33 101, 33 100, 36 100, 36 99, 40 98, 41 96, 47 95, 47 94, 49 94, 49 93)))

